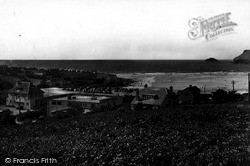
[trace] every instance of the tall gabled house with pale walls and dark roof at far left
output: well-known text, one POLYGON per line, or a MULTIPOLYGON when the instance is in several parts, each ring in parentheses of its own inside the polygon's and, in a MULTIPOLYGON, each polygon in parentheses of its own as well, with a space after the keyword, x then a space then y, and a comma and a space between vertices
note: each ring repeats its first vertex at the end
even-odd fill
POLYGON ((31 110, 35 107, 36 100, 43 96, 44 92, 30 82, 17 81, 14 88, 8 91, 6 105, 31 110))

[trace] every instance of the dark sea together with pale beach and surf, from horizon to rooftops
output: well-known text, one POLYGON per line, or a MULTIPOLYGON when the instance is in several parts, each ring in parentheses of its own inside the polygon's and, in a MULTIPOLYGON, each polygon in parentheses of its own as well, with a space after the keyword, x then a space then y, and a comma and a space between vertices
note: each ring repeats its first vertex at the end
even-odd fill
POLYGON ((218 88, 248 90, 250 64, 234 64, 232 60, 206 62, 204 60, 1 60, 0 65, 36 68, 75 69, 117 74, 135 80, 130 87, 142 88, 173 86, 182 90, 189 85, 199 87, 203 93, 218 88), (233 84, 234 82, 234 84, 233 84))

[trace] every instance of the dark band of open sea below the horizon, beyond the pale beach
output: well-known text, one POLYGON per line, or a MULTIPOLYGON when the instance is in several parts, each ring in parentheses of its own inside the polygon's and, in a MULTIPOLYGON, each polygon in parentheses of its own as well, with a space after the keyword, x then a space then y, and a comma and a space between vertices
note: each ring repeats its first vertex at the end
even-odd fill
POLYGON ((199 73, 250 72, 249 64, 234 64, 232 60, 0 60, 0 65, 75 69, 107 73, 199 73))

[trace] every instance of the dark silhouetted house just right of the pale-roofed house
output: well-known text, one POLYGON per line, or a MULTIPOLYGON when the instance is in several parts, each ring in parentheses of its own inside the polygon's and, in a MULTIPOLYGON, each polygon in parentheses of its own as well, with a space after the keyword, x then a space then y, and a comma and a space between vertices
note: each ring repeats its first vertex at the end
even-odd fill
POLYGON ((200 103, 200 89, 197 86, 189 85, 188 88, 178 91, 179 104, 193 105, 200 103))

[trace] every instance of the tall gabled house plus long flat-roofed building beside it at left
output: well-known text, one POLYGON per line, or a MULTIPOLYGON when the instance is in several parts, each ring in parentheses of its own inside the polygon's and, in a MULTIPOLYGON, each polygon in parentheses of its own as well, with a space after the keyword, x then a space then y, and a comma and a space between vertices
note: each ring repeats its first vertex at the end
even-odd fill
POLYGON ((46 96, 30 82, 17 82, 9 90, 6 105, 20 110, 44 110, 47 116, 53 112, 81 107, 86 112, 112 109, 122 104, 122 97, 112 94, 68 93, 46 96))

